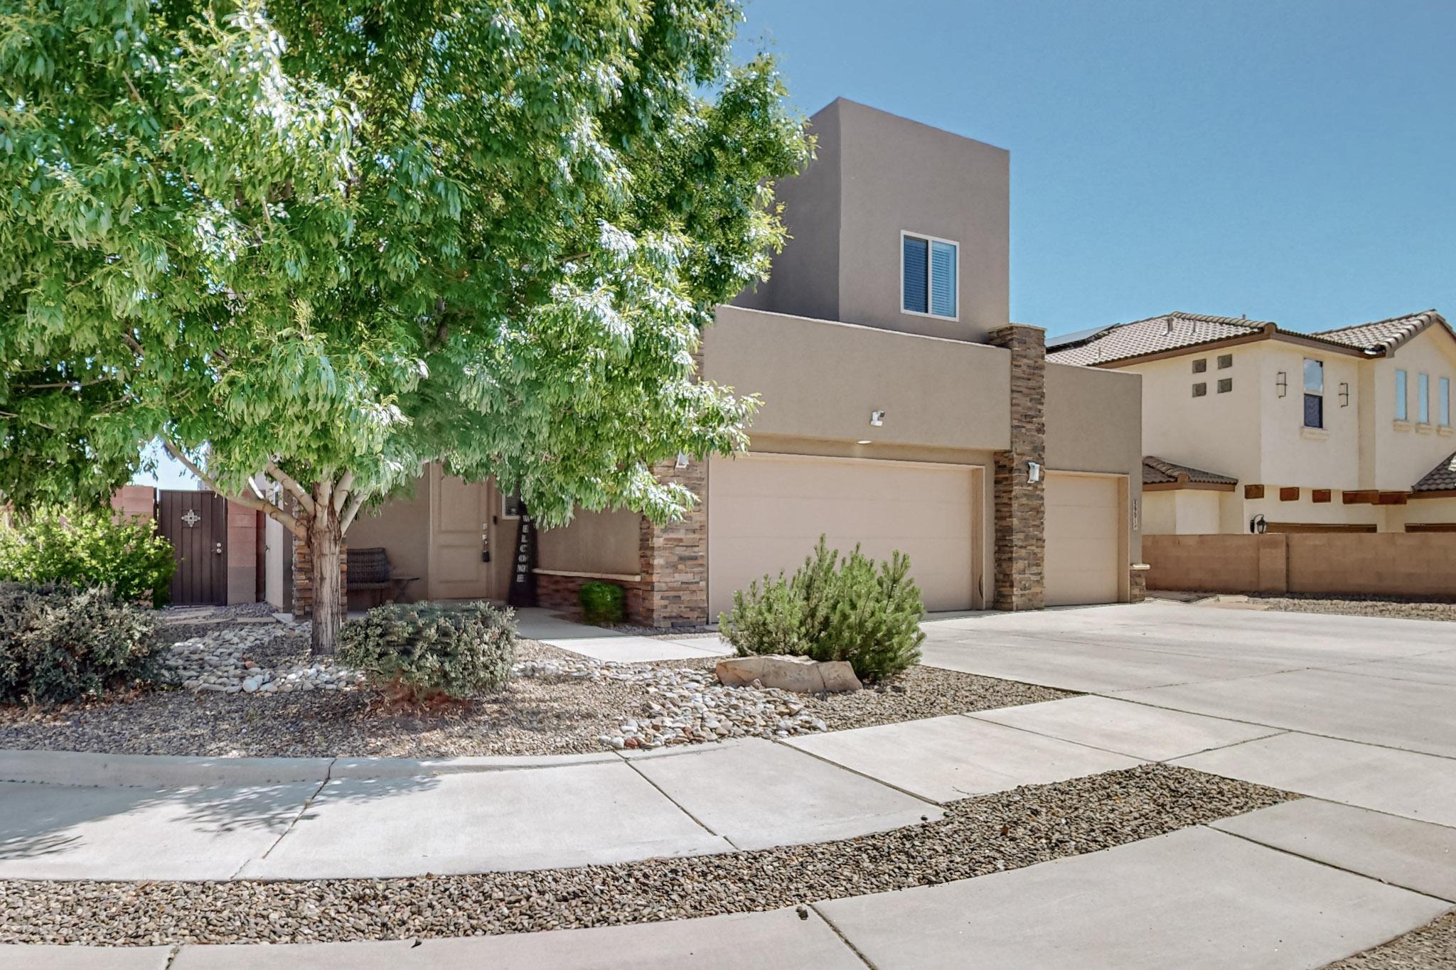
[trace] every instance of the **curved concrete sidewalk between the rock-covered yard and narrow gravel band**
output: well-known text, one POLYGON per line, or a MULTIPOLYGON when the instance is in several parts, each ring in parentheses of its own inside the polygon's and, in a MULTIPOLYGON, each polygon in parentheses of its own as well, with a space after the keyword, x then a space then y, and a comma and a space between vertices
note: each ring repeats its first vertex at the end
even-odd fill
POLYGON ((939 807, 760 739, 543 758, 0 752, 0 878, 491 873, 847 838, 939 807), (802 813, 775 806, 794 801, 802 813), (430 825, 421 825, 421 820, 430 825))

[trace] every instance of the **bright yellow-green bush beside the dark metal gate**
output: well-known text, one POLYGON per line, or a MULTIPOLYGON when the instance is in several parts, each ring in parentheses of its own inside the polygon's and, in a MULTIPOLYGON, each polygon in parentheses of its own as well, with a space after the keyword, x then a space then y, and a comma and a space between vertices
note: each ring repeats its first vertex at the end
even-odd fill
POLYGON ((0 580, 109 586, 118 599, 162 606, 173 569, 172 544, 150 519, 47 506, 0 526, 0 580))

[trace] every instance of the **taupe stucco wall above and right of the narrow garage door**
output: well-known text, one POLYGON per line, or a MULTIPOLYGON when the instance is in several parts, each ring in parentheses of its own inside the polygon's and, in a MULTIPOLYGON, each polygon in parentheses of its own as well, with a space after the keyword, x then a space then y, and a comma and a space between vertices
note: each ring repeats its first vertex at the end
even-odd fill
MULTIPOLYGON (((1142 377, 1047 364, 1047 468, 1127 476, 1128 510, 1142 510, 1142 377)), ((1128 522, 1128 557, 1142 554, 1142 515, 1128 522)))

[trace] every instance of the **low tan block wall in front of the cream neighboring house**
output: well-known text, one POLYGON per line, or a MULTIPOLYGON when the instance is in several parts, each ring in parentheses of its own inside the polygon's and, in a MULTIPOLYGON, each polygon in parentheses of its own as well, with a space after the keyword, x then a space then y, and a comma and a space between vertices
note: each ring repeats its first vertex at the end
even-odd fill
POLYGON ((1144 535, 1152 590, 1456 596, 1456 535, 1144 535))

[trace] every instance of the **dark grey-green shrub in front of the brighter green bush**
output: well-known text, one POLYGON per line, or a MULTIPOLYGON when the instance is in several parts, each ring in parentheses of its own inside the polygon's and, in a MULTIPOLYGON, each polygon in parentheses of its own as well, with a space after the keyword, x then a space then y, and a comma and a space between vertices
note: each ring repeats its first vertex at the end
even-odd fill
POLYGON ((151 611, 105 586, 0 583, 0 701, 61 704, 156 675, 151 611))

